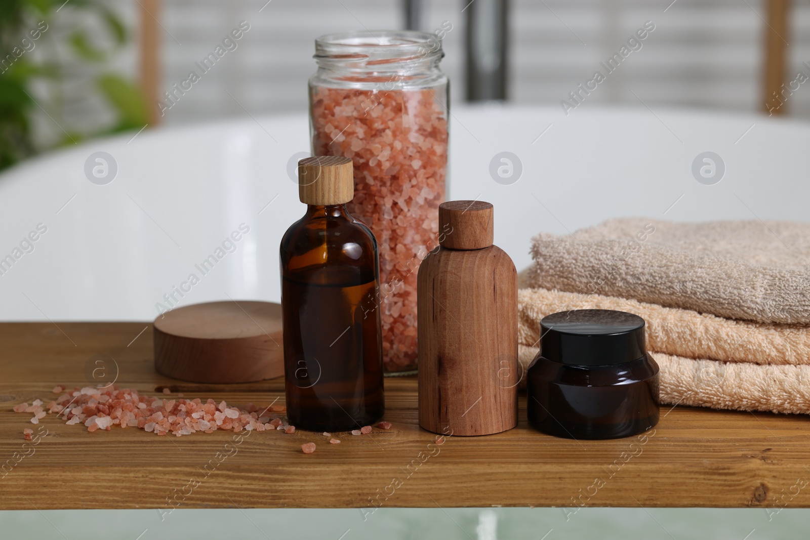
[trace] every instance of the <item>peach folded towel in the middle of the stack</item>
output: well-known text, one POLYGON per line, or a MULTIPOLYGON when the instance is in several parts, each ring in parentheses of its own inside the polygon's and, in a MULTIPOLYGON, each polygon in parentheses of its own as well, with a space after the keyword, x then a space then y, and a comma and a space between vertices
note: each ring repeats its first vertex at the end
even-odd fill
POLYGON ((614 296, 521 289, 518 343, 537 346, 540 319, 569 309, 616 309, 646 321, 647 348, 668 355, 751 362, 810 364, 810 327, 732 321, 689 309, 663 308, 614 296))

